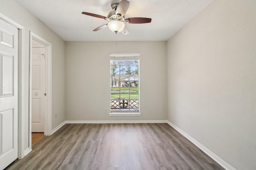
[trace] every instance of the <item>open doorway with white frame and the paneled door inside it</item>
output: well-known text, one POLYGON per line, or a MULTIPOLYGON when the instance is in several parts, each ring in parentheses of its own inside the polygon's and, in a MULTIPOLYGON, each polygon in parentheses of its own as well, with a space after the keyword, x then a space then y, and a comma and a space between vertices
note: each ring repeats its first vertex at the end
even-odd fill
POLYGON ((51 135, 52 44, 30 31, 30 149, 32 132, 51 135))

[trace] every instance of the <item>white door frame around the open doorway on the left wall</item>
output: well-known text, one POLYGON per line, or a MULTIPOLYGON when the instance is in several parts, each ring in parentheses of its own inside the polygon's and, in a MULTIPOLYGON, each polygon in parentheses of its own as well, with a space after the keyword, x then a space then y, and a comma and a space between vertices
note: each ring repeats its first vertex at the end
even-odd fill
POLYGON ((32 39, 40 42, 46 49, 46 113, 44 115, 44 135, 51 135, 52 131, 52 44, 30 31, 30 56, 29 56, 29 139, 30 149, 32 132, 32 39))

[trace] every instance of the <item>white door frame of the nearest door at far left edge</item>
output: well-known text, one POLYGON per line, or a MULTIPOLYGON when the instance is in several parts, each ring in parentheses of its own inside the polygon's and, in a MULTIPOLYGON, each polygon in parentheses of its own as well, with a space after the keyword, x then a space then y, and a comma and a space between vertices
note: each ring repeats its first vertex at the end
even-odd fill
POLYGON ((24 157, 24 27, 0 13, 0 19, 18 29, 18 158, 24 157))

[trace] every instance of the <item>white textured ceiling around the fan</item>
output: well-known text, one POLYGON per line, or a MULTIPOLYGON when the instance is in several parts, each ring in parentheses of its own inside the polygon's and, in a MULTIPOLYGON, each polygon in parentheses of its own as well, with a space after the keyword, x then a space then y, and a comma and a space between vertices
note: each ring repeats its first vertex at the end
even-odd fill
POLYGON ((92 31, 108 21, 86 16, 108 16, 121 0, 17 0, 64 41, 166 41, 214 0, 129 0, 125 18, 152 18, 151 23, 126 23, 130 34, 108 28, 92 31))

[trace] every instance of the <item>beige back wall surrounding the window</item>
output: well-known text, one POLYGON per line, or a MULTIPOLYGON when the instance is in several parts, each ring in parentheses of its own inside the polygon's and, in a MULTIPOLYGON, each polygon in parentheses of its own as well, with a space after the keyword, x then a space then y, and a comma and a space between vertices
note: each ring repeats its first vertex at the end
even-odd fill
MULTIPOLYGON (((113 34, 113 36, 115 36, 113 34)), ((66 42, 66 120, 165 120, 166 41, 66 42), (140 53, 139 117, 104 113, 110 107, 110 53, 140 53)))

